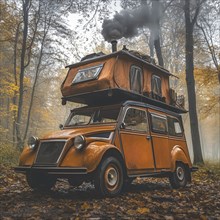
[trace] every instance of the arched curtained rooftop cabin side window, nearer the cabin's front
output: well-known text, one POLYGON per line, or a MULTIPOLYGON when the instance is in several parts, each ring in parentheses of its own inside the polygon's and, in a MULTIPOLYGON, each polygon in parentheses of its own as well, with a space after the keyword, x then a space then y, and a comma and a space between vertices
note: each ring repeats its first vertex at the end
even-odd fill
POLYGON ((142 93, 143 87, 143 73, 138 66, 131 66, 130 69, 130 88, 131 91, 142 93))

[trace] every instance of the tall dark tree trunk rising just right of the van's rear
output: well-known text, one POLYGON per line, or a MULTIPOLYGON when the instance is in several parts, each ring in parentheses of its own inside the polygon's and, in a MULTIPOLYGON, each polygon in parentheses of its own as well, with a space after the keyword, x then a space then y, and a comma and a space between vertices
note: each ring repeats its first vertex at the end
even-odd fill
MULTIPOLYGON (((186 56, 186 84, 189 100, 189 118, 191 126, 191 136, 194 153, 194 164, 203 164, 198 116, 196 111, 196 93, 195 93, 195 79, 194 79, 194 62, 193 62, 193 26, 194 22, 191 21, 190 16, 190 0, 185 0, 185 26, 186 26, 186 45, 185 45, 185 56, 186 56)), ((194 17, 195 19, 196 17, 194 17)), ((193 20, 194 20, 193 19, 193 20)), ((195 21, 195 20, 194 20, 195 21)))

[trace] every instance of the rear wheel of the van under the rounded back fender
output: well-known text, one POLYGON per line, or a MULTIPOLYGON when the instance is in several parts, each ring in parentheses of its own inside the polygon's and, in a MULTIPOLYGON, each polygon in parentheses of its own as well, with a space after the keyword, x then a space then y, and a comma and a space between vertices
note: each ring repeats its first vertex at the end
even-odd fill
POLYGON ((175 172, 169 176, 170 184, 172 188, 183 188, 187 184, 188 169, 183 163, 177 163, 175 172))

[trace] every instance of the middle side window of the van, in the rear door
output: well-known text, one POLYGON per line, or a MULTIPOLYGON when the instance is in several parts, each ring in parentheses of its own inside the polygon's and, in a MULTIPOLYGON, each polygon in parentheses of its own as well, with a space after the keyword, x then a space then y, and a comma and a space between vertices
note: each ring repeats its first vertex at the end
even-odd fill
POLYGON ((151 114, 152 131, 157 133, 167 133, 167 120, 165 116, 151 114))

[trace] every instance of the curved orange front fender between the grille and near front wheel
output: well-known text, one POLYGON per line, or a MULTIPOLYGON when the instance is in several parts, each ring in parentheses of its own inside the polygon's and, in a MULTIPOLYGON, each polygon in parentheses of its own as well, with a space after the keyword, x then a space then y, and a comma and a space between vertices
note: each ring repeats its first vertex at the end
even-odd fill
POLYGON ((109 149, 116 149, 112 144, 96 141, 88 144, 88 146, 79 151, 75 147, 71 147, 61 162, 61 167, 86 167, 87 172, 94 171, 99 165, 104 153, 109 149))

